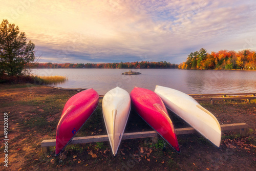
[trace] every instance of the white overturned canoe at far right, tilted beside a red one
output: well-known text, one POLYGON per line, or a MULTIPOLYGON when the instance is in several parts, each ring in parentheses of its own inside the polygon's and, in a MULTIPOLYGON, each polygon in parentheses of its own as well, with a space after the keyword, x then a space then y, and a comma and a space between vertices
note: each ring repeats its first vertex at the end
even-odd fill
POLYGON ((195 99, 175 89, 156 86, 166 107, 181 117, 202 136, 220 147, 221 126, 214 115, 203 108, 195 99))

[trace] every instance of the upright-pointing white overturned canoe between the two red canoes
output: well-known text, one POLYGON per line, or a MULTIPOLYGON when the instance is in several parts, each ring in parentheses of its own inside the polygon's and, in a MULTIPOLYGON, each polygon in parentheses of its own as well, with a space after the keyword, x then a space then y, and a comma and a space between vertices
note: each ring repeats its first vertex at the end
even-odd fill
POLYGON ((119 87, 110 90, 102 99, 103 118, 114 156, 117 154, 130 110, 130 95, 119 87))

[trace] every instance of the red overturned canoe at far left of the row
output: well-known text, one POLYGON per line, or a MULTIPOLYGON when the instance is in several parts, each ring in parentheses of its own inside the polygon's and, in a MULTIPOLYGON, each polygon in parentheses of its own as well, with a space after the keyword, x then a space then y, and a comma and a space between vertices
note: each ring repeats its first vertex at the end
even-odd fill
POLYGON ((64 106, 56 132, 56 151, 58 156, 72 141, 82 125, 93 114, 99 103, 99 95, 88 89, 72 96, 64 106))

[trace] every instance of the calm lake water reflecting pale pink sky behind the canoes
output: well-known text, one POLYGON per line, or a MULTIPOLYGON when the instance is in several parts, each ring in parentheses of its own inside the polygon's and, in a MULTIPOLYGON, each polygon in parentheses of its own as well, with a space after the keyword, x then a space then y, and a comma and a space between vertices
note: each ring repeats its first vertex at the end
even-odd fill
POLYGON ((155 90, 165 86, 187 94, 256 92, 256 71, 202 71, 135 69, 141 75, 121 75, 129 69, 35 69, 35 75, 61 75, 62 88, 93 88, 100 95, 119 86, 131 92, 135 86, 155 90))

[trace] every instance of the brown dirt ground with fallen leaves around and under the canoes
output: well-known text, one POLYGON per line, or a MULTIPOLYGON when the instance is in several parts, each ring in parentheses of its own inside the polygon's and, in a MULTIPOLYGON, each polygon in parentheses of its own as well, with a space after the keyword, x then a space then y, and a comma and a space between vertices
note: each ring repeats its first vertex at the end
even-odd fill
MULTIPOLYGON (((116 157, 109 142, 68 145, 58 157, 54 156, 55 147, 43 154, 40 142, 55 138, 63 106, 76 93, 33 84, 0 84, 2 128, 8 116, 8 133, 3 129, 0 132, 1 170, 256 170, 255 100, 250 104, 246 100, 201 103, 220 124, 249 125, 247 137, 236 132, 223 133, 220 148, 199 134, 189 134, 177 135, 181 153, 159 137, 157 144, 152 144, 151 138, 122 140, 116 157), (6 154, 8 167, 4 163, 6 154)), ((189 127, 172 112, 168 113, 176 128, 189 127)), ((141 131, 152 129, 132 109, 125 132, 141 131)), ((105 134, 100 100, 76 137, 105 134)))

